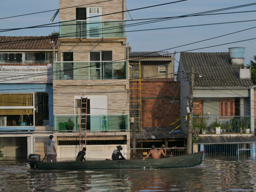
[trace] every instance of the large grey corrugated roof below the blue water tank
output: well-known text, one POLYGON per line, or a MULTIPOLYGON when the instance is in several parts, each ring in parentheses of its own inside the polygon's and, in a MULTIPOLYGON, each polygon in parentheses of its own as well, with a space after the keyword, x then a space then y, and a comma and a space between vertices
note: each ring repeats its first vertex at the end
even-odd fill
POLYGON ((232 66, 229 52, 218 53, 180 53, 185 70, 190 70, 192 66, 197 73, 207 77, 198 78, 195 81, 196 86, 212 87, 237 87, 254 84, 251 79, 239 79, 239 66, 232 66), (215 79, 218 80, 215 80, 215 79))

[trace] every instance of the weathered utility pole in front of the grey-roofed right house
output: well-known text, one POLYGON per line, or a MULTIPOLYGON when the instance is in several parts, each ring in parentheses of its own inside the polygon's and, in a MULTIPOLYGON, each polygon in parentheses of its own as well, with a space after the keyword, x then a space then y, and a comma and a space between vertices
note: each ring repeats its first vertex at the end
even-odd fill
POLYGON ((189 80, 189 98, 188 98, 188 107, 189 111, 187 114, 187 154, 192 153, 192 131, 193 131, 193 90, 195 83, 195 74, 194 67, 191 68, 191 75, 189 80))

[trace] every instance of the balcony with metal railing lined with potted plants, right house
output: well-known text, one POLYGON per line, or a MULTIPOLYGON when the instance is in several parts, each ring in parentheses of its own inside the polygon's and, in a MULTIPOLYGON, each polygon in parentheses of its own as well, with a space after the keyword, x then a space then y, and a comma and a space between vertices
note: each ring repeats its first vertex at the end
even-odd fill
POLYGON ((228 116, 228 117, 209 117, 194 116, 193 129, 201 129, 202 133, 253 133, 251 130, 250 116, 228 116), (216 131, 214 122, 220 123, 220 129, 216 131))

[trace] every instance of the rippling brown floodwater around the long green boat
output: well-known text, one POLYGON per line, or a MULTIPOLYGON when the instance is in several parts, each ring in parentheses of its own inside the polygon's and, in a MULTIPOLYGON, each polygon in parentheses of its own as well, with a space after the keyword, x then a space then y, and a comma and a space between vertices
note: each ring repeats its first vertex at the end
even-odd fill
POLYGON ((196 168, 43 171, 0 161, 0 191, 256 191, 256 164, 204 160, 196 168))

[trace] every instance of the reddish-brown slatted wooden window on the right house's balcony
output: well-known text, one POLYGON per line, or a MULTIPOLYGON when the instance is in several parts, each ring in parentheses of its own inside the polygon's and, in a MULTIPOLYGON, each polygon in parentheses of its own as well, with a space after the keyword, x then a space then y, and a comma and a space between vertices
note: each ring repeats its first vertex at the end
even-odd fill
POLYGON ((220 99, 219 108, 220 119, 224 119, 227 116, 235 116, 235 99, 220 99))

